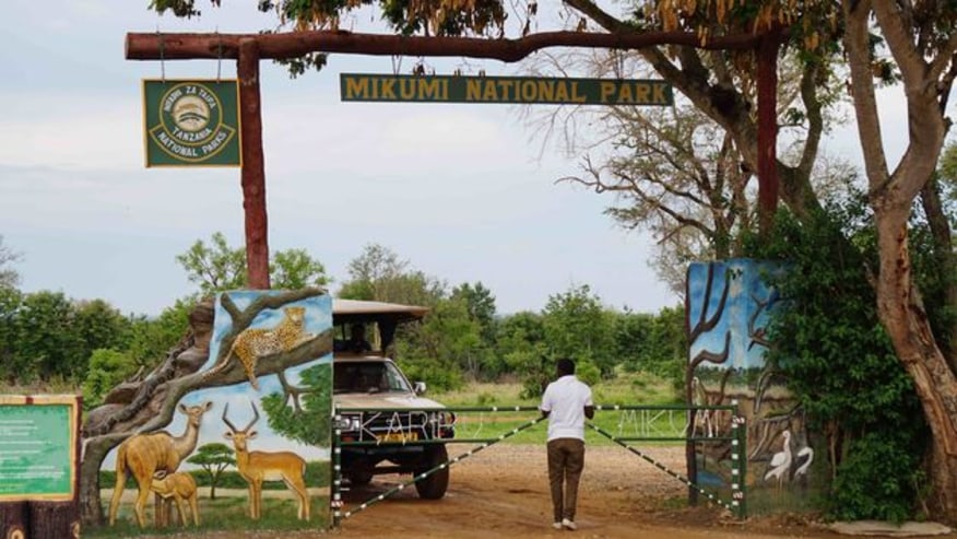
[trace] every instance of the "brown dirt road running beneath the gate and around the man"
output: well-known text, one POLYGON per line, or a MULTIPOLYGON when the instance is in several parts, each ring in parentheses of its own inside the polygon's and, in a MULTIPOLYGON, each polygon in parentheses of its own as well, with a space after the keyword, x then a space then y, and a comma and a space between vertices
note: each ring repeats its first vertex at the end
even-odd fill
MULTIPOLYGON (((450 446, 454 457, 469 447, 450 446)), ((684 469, 682 447, 646 449, 649 456, 676 470, 684 469)), ((377 478, 346 494, 346 511, 354 511, 391 489, 398 476, 377 478)), ((449 492, 440 501, 420 500, 414 488, 370 505, 342 523, 338 531, 264 532, 256 539, 315 539, 320 537, 374 539, 780 539, 839 536, 798 516, 752 518, 740 523, 714 508, 688 508, 684 485, 648 462, 618 447, 589 447, 580 487, 578 530, 554 530, 544 447, 496 445, 451 469, 449 492)), ((167 536, 168 537, 168 536, 167 536)), ((175 537, 226 539, 235 532, 175 537)), ((946 536, 950 539, 957 535, 946 536)))

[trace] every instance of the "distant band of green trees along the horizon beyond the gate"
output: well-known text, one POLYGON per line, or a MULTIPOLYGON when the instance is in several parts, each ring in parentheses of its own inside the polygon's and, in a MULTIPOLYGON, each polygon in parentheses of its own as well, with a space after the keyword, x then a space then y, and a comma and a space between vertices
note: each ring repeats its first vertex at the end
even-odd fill
MULTIPOLYGON (((417 302, 405 303, 432 310, 423 323, 400 328, 392 352, 410 378, 435 390, 520 379, 534 395, 559 356, 575 359, 580 376, 591 382, 618 368, 651 371, 675 383, 684 376, 681 308, 613 309, 582 285, 551 296, 540 312, 499 315, 482 283, 445 292, 423 282, 418 292, 410 297, 417 302)), ((103 300, 0 288, 0 380, 14 390, 82 388, 88 409, 123 379, 160 364, 186 335, 194 305, 196 298, 184 298, 150 318, 123 315, 103 300)))

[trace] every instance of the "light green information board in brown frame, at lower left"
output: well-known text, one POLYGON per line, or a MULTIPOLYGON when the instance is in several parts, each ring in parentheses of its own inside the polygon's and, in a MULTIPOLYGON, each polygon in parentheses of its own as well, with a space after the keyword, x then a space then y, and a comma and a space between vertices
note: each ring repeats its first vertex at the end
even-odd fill
POLYGON ((70 501, 76 397, 0 397, 0 502, 70 501))

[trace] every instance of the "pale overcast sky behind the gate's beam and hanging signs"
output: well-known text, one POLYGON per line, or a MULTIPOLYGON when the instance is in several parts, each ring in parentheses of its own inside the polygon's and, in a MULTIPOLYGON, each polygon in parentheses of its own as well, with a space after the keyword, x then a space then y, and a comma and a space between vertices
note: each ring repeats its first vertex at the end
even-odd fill
MULTIPOLYGON (((0 235, 23 254, 14 269, 25 291, 155 315, 196 290, 176 255, 217 231, 244 242, 238 168, 143 165, 141 80, 232 78, 235 63, 128 61, 123 38, 255 32, 273 20, 245 1, 198 0, 203 16, 189 22, 147 3, 11 2, 0 21, 0 235)), ((440 74, 456 63, 433 62, 440 74)), ((340 102, 340 72, 392 70, 391 58, 336 55, 291 80, 262 63, 272 250, 305 248, 341 283, 364 245, 381 244, 451 285, 482 281, 501 313, 539 310, 580 284, 617 308, 681 302, 647 265, 650 239, 602 214, 611 199, 554 184, 577 160, 542 154, 512 107, 340 102)), ((858 151, 853 139, 837 147, 858 151)))

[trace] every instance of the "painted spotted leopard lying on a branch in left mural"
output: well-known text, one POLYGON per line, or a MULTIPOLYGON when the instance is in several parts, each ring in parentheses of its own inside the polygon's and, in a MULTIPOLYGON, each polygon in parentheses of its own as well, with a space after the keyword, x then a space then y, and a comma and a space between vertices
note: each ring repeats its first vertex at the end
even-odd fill
POLYGON ((229 360, 235 355, 243 363, 246 376, 253 389, 259 389, 259 380, 256 378, 256 362, 267 355, 288 352, 299 344, 314 339, 316 336, 305 331, 306 308, 284 307, 285 316, 273 328, 247 328, 244 329, 229 348, 223 361, 203 374, 203 379, 222 372, 229 360))

